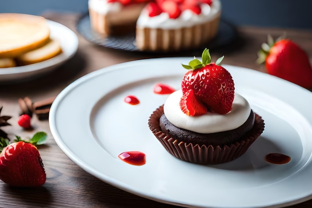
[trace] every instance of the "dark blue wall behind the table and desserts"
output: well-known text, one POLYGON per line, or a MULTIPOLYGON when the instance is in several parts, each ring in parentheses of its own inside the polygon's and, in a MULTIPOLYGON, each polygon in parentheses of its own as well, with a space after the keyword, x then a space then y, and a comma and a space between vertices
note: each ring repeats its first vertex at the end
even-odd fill
MULTIPOLYGON (((236 25, 312 29, 312 0, 221 0, 222 17, 236 25)), ((40 15, 87 12, 88 0, 0 0, 0 12, 40 15)))

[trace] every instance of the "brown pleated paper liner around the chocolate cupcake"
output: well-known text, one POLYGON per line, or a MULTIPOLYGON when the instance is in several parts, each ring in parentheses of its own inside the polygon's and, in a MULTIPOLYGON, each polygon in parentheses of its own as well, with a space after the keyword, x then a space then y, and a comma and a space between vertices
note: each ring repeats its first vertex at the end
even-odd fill
POLYGON ((172 138, 170 135, 161 131, 159 118, 163 114, 163 105, 156 109, 149 119, 149 127, 158 141, 168 153, 174 157, 197 164, 212 165, 226 163, 242 156, 250 145, 264 131, 264 121, 255 114, 254 127, 243 137, 231 145, 212 146, 186 143, 172 138))

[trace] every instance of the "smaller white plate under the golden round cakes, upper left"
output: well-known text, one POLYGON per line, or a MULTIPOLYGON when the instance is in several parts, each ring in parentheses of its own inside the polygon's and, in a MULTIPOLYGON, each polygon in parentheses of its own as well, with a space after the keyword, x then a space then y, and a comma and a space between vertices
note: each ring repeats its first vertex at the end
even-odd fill
POLYGON ((61 42, 62 53, 39 63, 0 69, 0 83, 18 82, 41 76, 55 69, 71 58, 78 49, 77 35, 66 26, 47 20, 50 26, 50 37, 61 42))

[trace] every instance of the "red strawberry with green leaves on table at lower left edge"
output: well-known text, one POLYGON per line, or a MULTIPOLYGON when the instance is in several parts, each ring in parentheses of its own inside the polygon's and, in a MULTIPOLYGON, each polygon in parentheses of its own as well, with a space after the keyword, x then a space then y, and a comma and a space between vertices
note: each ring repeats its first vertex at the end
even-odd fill
POLYGON ((0 180, 15 187, 39 187, 46 174, 37 145, 46 140, 44 132, 37 132, 29 141, 16 136, 13 143, 0 138, 0 180))

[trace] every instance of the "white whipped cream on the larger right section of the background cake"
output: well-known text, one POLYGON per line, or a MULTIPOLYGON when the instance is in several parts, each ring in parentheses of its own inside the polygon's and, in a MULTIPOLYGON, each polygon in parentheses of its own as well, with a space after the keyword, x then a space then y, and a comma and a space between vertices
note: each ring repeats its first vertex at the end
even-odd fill
POLYGON ((213 0, 210 6, 206 3, 202 3, 200 7, 200 14, 195 14, 191 10, 186 9, 182 11, 181 15, 176 19, 169 18, 166 12, 150 17, 148 10, 144 9, 137 21, 137 26, 163 29, 191 27, 195 24, 204 23, 215 18, 219 16, 221 12, 220 0, 213 0))

